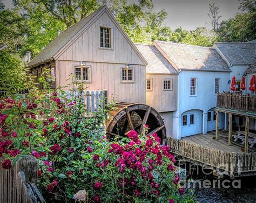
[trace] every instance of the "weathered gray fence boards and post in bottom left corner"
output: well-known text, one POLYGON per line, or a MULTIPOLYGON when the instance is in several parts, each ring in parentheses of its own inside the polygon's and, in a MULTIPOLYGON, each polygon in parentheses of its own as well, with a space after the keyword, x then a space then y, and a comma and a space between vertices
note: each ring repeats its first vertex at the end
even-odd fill
MULTIPOLYGON (((0 162, 4 159, 0 158, 0 162)), ((19 159, 10 169, 0 166, 0 203, 44 202, 36 187, 37 159, 33 156, 19 159)))

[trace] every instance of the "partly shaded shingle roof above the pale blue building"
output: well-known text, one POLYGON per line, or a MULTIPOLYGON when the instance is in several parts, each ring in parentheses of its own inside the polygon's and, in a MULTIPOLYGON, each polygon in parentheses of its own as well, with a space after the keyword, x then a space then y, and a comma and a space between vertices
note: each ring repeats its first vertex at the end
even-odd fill
POLYGON ((230 71, 214 48, 154 41, 158 50, 169 58, 174 67, 196 71, 230 71))

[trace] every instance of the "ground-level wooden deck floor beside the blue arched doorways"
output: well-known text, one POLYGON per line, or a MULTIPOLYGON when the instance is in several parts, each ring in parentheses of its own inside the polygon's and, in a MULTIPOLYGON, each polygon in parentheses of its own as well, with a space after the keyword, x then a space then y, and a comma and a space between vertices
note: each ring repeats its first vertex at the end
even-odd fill
MULTIPOLYGON (((232 135, 237 135, 237 132, 233 131, 232 135)), ((235 153, 242 153, 241 146, 244 146, 241 144, 241 142, 234 142, 234 138, 232 138, 232 145, 228 146, 228 131, 225 130, 219 130, 219 139, 215 140, 212 137, 215 136, 215 131, 209 132, 206 135, 192 135, 189 137, 184 137, 183 139, 200 144, 201 146, 208 146, 213 149, 222 150, 226 152, 235 152, 235 153)), ((249 148, 248 152, 255 152, 256 145, 254 145, 254 148, 249 148)))

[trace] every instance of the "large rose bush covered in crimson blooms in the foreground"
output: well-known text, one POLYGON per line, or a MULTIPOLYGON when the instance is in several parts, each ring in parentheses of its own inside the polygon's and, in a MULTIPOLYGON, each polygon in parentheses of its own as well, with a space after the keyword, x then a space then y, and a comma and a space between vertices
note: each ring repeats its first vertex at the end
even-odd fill
POLYGON ((191 200, 179 184, 171 149, 160 146, 157 134, 146 136, 145 127, 143 135, 132 130, 109 142, 104 136, 107 111, 89 115, 79 95, 67 99, 62 90, 42 90, 25 99, 3 98, 3 169, 21 157, 35 156, 38 188, 49 202, 69 202, 79 190, 86 190, 94 202, 191 200))

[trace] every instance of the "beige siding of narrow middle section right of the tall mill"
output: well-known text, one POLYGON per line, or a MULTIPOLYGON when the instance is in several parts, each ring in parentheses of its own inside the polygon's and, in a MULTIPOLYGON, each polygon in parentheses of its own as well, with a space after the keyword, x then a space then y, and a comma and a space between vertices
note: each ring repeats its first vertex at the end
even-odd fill
POLYGON ((146 92, 146 104, 159 112, 176 111, 178 75, 147 73, 146 79, 152 79, 152 91, 146 92), (172 80, 172 90, 163 90, 165 79, 172 80))

